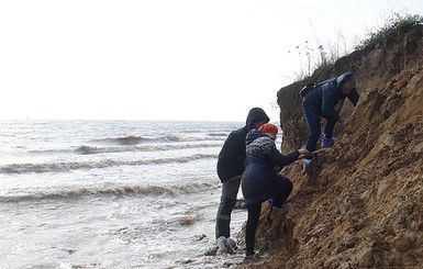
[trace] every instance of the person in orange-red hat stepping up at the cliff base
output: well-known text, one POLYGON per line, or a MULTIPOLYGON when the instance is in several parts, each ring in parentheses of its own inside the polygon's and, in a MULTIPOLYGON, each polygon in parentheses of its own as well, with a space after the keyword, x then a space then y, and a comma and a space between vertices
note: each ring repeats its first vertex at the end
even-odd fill
POLYGON ((245 139, 246 160, 242 176, 242 191, 245 199, 244 206, 248 210, 245 229, 246 256, 252 257, 254 238, 258 225, 261 202, 271 199, 272 205, 281 208, 292 191, 292 183, 288 178, 278 175, 280 168, 310 155, 305 148, 282 155, 275 145, 278 127, 271 123, 251 131, 245 139))

